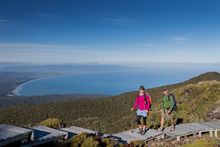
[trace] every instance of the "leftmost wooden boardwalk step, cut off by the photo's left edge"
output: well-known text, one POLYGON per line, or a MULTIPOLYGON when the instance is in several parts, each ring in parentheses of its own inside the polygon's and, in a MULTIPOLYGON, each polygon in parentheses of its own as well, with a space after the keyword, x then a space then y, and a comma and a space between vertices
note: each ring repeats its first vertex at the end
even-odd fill
POLYGON ((32 131, 8 124, 0 124, 0 146, 9 145, 22 140, 30 140, 32 131))

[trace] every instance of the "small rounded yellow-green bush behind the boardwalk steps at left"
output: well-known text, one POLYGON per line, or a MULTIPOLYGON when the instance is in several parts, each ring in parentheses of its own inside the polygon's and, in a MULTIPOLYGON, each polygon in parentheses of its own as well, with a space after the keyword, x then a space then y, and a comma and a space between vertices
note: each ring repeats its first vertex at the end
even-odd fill
POLYGON ((40 125, 50 128, 60 128, 61 121, 58 118, 48 118, 40 122, 40 125))

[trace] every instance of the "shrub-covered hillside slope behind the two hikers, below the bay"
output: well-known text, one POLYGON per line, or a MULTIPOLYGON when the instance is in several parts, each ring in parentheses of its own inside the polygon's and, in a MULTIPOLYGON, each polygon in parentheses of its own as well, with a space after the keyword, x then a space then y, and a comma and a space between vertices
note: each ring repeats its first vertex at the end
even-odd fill
MULTIPOLYGON (((153 110, 148 118, 149 127, 156 128, 159 125, 163 87, 148 89, 153 99, 153 110)), ((219 107, 220 74, 217 72, 205 73, 166 87, 177 97, 178 122, 205 121, 209 119, 210 111, 219 107)), ((129 92, 105 99, 80 99, 1 108, 0 123, 36 125, 48 117, 56 117, 66 125, 115 133, 131 129, 133 116, 130 107, 136 94, 137 92, 129 92)))

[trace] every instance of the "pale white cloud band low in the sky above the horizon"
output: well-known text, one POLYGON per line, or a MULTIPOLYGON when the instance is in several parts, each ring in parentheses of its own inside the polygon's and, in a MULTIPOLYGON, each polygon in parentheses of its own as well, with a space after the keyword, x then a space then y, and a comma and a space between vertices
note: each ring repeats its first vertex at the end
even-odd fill
POLYGON ((32 63, 220 63, 219 51, 167 48, 106 50, 77 45, 0 43, 0 62, 32 63))

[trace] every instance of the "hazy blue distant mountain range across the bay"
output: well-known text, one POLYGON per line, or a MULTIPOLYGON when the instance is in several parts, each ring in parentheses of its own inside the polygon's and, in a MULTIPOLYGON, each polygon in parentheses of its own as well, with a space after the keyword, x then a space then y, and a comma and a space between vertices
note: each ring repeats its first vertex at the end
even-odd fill
POLYGON ((120 65, 101 64, 0 64, 0 72, 33 72, 51 75, 100 73, 126 69, 120 65))

